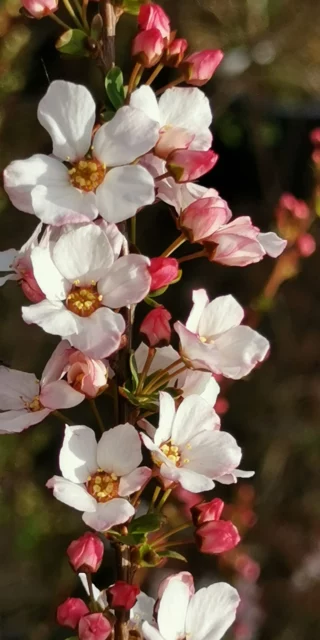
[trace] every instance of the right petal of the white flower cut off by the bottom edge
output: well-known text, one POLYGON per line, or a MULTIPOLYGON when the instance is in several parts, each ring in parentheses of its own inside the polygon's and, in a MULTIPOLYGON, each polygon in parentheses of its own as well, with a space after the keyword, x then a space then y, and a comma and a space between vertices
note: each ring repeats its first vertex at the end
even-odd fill
POLYGON ((221 640, 235 620, 239 602, 238 592, 226 582, 200 589, 188 607, 186 636, 197 640, 221 640))

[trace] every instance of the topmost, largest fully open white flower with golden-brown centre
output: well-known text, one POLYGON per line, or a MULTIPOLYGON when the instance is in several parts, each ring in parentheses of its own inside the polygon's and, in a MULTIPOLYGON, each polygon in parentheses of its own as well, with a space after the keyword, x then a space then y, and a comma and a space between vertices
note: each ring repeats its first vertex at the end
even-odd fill
POLYGON ((95 117, 85 87, 51 83, 38 119, 51 136, 53 155, 17 160, 4 171, 5 189, 17 209, 53 225, 93 220, 98 213, 120 222, 153 202, 151 176, 131 163, 157 142, 157 123, 140 109, 121 107, 92 140, 95 117))

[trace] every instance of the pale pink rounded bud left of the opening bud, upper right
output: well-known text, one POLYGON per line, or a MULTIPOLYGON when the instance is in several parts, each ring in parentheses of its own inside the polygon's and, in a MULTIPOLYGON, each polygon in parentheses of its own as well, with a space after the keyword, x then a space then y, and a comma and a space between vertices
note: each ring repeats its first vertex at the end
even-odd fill
POLYGON ((199 198, 180 215, 180 227, 187 232, 190 242, 205 240, 231 218, 231 211, 220 196, 199 198))

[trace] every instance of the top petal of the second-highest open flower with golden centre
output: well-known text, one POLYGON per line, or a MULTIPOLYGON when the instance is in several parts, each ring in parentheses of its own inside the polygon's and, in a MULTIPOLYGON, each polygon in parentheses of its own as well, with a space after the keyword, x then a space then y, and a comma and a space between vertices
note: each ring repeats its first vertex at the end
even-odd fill
POLYGON ((111 267, 113 251, 106 235, 95 224, 63 234, 53 247, 53 260, 60 273, 79 286, 97 281, 111 267))

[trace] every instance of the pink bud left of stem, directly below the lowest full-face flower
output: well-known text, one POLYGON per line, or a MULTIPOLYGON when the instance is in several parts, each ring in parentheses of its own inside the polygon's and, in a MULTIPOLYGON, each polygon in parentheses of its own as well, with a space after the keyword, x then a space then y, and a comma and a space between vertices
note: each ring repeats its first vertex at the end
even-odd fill
POLYGON ((98 571, 104 552, 102 540, 94 533, 85 533, 73 540, 67 549, 70 564, 75 571, 95 573, 98 571))

